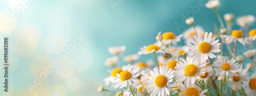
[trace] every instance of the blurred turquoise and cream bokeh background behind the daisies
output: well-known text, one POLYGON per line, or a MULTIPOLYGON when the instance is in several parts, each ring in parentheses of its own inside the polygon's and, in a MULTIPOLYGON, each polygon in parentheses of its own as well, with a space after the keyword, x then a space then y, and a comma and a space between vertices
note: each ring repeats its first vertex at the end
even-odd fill
MULTIPOLYGON (((139 47, 155 43, 160 31, 183 33, 190 28, 184 22, 190 16, 195 18, 195 25, 212 32, 214 23, 220 23, 214 11, 205 8, 206 2, 0 1, 0 46, 4 45, 3 38, 9 37, 10 62, 9 91, 0 87, 0 95, 100 95, 97 88, 110 76, 107 70, 113 69, 104 65, 105 59, 112 57, 108 47, 125 45, 123 56, 136 54, 139 47)), ((256 16, 254 1, 220 2, 222 18, 225 13, 256 16)), ((235 24, 233 29, 240 27, 235 24)), ((3 58, 3 47, 0 50, 3 58)), ((151 55, 141 57, 144 59, 140 61, 153 59, 151 55)), ((4 70, 0 70, 3 77, 4 70)))

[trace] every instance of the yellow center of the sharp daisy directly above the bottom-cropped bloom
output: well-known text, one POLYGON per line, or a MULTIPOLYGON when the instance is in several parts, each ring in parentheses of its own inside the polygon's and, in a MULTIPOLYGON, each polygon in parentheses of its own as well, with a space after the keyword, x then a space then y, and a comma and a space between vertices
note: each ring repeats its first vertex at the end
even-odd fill
POLYGON ((185 67, 185 75, 188 77, 193 77, 197 74, 197 66, 194 64, 188 64, 185 67))

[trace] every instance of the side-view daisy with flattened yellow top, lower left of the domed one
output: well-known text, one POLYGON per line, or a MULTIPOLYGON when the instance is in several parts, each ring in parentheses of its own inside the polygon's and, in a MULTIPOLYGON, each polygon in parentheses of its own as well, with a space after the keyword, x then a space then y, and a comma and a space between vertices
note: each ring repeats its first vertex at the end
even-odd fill
POLYGON ((138 52, 138 55, 142 55, 142 54, 150 54, 150 53, 160 53, 162 52, 160 47, 156 44, 150 44, 148 46, 143 46, 140 48, 140 51, 138 52))

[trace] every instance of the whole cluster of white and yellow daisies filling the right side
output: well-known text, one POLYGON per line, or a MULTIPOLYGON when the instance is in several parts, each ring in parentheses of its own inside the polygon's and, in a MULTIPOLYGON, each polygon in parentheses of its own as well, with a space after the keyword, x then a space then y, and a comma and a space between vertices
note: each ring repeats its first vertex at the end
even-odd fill
POLYGON ((122 66, 120 57, 125 46, 110 47, 114 57, 106 59, 105 65, 113 69, 104 82, 112 89, 100 86, 98 91, 116 96, 256 95, 256 71, 252 70, 256 69, 256 29, 249 31, 255 17, 238 17, 241 29, 232 30, 234 15, 225 14, 224 23, 217 10, 219 1, 208 1, 205 6, 214 10, 219 19, 220 27, 215 26, 214 32, 205 32, 189 17, 185 22, 191 28, 183 34, 159 32, 155 43, 123 57, 127 64, 122 66), (182 40, 185 45, 177 46, 182 40), (236 55, 239 43, 246 50, 244 56, 236 55), (228 52, 223 53, 224 50, 228 52), (139 56, 147 54, 152 54, 154 60, 137 61, 139 56), (251 63, 243 64, 244 57, 251 63))

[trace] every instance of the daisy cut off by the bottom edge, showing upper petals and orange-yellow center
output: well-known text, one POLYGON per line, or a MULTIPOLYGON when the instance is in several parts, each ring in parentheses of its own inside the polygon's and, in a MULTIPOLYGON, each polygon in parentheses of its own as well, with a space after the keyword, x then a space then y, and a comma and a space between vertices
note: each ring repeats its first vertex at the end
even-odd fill
POLYGON ((185 86, 182 83, 179 83, 177 87, 181 90, 181 95, 199 95, 205 96, 204 94, 208 91, 207 89, 203 90, 197 86, 196 84, 192 84, 190 86, 185 86))

